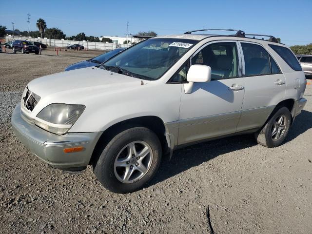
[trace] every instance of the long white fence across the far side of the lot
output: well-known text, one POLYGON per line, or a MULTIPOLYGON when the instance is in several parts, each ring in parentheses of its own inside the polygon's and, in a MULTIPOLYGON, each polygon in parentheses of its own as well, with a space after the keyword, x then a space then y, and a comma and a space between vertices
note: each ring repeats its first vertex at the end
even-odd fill
POLYGON ((91 42, 91 41, 78 41, 78 40, 59 40, 59 39, 38 39, 31 37, 18 37, 18 36, 5 36, 6 41, 12 40, 28 40, 28 41, 38 41, 47 46, 52 47, 66 47, 67 45, 79 44, 83 45, 86 49, 91 50, 114 50, 120 47, 129 47, 130 45, 125 44, 115 44, 115 43, 103 43, 103 42, 91 42))

